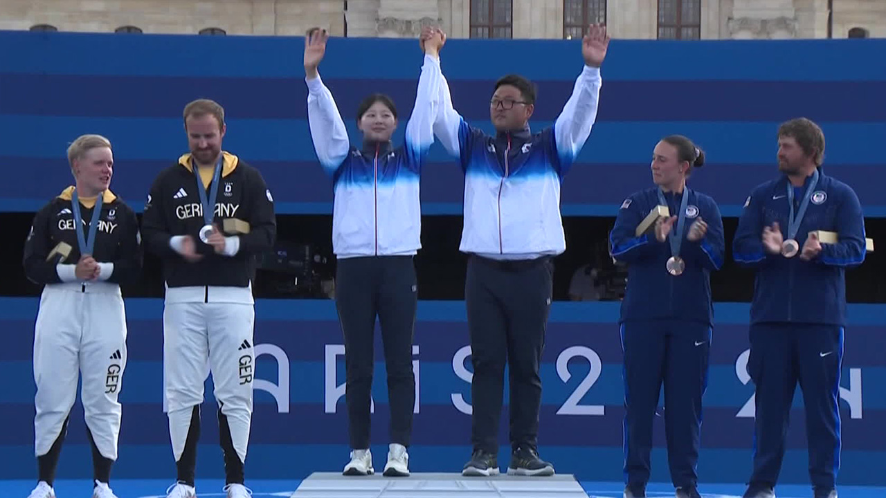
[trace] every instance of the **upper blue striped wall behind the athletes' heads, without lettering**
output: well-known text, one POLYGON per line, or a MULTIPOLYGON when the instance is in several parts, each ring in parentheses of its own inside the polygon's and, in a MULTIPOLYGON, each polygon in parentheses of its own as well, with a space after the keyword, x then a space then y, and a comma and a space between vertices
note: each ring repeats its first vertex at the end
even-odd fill
MULTIPOLYGON (((115 145, 113 190, 141 209, 152 179, 185 150, 183 106, 226 107, 225 146, 261 168, 280 213, 330 213, 329 179, 307 129, 302 39, 295 37, 0 32, 0 211, 33 211, 70 182, 65 149, 82 133, 115 145)), ((775 174, 781 121, 807 116, 827 136, 827 172, 850 183, 867 216, 886 216, 886 40, 614 40, 599 119, 563 184, 563 213, 614 215, 649 181, 657 140, 680 133, 708 152, 692 183, 734 216, 775 174)), ((353 139, 361 97, 400 107, 398 143, 422 63, 412 40, 332 39, 320 68, 353 139)), ((581 69, 579 41, 449 40, 442 66, 455 107, 490 128, 501 74, 534 79, 532 126, 556 119, 581 69)), ((462 213, 462 173, 439 144, 424 172, 425 214, 462 213)))

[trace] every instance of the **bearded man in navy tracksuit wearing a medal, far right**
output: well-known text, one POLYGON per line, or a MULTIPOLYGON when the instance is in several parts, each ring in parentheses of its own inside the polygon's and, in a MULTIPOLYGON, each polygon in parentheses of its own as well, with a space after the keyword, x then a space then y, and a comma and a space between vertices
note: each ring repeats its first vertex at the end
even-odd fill
POLYGON ((756 268, 748 372, 757 388, 754 469, 744 498, 773 498, 791 401, 803 390, 809 473, 815 498, 836 498, 838 396, 843 363, 846 268, 865 260, 859 198, 821 173, 825 139, 804 118, 781 125, 782 175, 751 192, 733 243, 734 259, 756 268), (812 232, 836 232, 825 244, 812 232))

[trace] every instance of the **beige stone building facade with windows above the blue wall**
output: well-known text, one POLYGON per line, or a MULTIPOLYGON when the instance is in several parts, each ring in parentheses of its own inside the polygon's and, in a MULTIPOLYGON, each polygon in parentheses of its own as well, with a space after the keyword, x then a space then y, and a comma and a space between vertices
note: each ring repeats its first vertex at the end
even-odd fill
POLYGON ((206 35, 563 38, 603 20, 617 38, 886 37, 886 0, 3 0, 0 29, 206 35), (685 12, 684 12, 685 11, 685 12))

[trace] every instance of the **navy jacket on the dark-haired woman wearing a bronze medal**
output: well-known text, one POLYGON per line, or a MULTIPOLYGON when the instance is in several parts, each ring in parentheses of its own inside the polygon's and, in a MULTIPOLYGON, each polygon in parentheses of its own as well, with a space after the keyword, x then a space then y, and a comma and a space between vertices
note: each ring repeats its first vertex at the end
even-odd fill
MULTIPOLYGON (((685 190, 683 192, 686 192, 685 190)), ((664 200, 673 215, 680 212, 683 194, 667 192, 664 200)), ((650 231, 635 236, 637 225, 658 205, 658 187, 634 193, 618 209, 610 232, 610 253, 627 263, 627 289, 621 302, 620 322, 659 319, 713 324, 711 271, 723 266, 726 241, 723 219, 717 203, 710 196, 689 189, 680 257, 686 261, 682 275, 672 276, 666 263, 671 257, 669 239, 658 242, 650 231), (701 217, 708 224, 704 237, 691 242, 686 237, 692 223, 701 217)), ((672 230, 676 232, 677 222, 672 230)))

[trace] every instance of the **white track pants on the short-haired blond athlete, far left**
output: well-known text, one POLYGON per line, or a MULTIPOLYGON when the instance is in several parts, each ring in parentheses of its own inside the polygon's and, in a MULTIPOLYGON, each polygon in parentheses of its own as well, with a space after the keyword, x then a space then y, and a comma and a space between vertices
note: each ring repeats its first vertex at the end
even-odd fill
POLYGON ((34 333, 35 455, 58 439, 82 375, 86 425, 102 456, 117 459, 126 334, 118 285, 46 285, 34 333))

